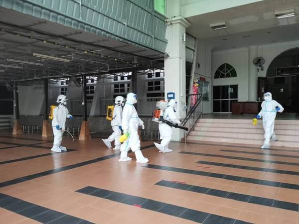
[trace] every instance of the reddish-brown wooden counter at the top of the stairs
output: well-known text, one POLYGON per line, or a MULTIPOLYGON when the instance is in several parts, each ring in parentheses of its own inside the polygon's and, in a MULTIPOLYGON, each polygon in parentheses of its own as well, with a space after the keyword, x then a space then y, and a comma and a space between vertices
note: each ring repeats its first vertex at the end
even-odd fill
POLYGON ((259 113, 262 102, 233 102, 232 114, 259 113))

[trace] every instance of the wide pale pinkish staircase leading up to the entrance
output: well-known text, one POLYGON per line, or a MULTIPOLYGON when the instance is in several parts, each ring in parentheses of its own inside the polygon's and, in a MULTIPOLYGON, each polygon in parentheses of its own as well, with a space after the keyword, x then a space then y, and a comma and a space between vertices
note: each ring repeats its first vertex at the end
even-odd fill
MULTIPOLYGON (((299 148, 299 120, 276 120, 275 133, 278 141, 273 146, 299 148)), ((251 119, 200 119, 187 137, 187 142, 218 142, 255 144, 264 141, 263 120, 257 125, 251 119)))

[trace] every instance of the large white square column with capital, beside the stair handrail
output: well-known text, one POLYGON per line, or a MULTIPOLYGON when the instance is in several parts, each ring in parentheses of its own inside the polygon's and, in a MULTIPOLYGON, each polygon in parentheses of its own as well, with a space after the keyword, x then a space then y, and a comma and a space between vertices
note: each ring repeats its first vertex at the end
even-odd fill
MULTIPOLYGON (((186 48, 184 35, 186 27, 190 26, 185 18, 178 16, 168 20, 166 39, 168 44, 166 52, 169 55, 164 60, 164 85, 165 99, 168 92, 175 93, 177 101, 177 114, 184 118, 186 113, 186 48)), ((179 141, 183 137, 183 130, 173 129, 173 140, 179 141)))

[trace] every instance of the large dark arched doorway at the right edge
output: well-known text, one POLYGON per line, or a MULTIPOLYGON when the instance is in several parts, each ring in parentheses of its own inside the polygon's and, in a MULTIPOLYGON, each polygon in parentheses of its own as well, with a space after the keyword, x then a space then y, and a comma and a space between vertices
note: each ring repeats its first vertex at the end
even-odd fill
POLYGON ((278 55, 267 70, 267 91, 287 113, 299 113, 299 48, 278 55))

